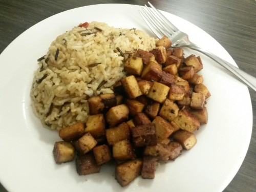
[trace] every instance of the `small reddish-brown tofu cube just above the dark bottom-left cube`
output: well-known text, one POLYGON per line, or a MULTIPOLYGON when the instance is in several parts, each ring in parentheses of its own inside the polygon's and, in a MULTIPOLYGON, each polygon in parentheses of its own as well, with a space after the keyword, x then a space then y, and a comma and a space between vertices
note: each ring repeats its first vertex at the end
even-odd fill
POLYGON ((94 147, 93 154, 98 165, 101 165, 111 160, 110 148, 106 144, 94 147))

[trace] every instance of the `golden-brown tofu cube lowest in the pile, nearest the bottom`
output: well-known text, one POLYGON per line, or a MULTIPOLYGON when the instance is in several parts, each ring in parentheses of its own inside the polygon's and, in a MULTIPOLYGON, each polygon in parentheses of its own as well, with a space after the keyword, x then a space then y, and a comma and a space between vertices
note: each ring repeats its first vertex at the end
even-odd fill
POLYGON ((126 186, 140 175, 142 160, 134 159, 119 164, 115 168, 115 178, 121 186, 126 186))

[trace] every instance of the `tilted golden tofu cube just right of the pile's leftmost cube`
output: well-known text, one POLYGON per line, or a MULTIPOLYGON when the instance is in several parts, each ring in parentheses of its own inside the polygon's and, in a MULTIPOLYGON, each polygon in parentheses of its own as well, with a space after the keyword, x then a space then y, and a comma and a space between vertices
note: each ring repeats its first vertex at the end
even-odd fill
POLYGON ((84 134, 77 141, 74 141, 74 146, 80 154, 86 154, 95 147, 97 141, 93 138, 90 133, 84 134))

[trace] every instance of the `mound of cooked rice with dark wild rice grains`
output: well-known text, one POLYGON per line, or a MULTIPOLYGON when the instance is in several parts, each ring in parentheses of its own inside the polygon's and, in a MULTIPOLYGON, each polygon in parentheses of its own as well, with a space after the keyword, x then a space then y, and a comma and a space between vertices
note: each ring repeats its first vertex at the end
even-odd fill
MULTIPOLYGON (((92 22, 59 35, 47 54, 38 59, 31 100, 34 114, 50 129, 62 129, 89 115, 87 99, 113 93, 125 76, 122 53, 155 48, 156 39, 136 29, 92 22)), ((125 54, 127 57, 128 54, 125 54)))

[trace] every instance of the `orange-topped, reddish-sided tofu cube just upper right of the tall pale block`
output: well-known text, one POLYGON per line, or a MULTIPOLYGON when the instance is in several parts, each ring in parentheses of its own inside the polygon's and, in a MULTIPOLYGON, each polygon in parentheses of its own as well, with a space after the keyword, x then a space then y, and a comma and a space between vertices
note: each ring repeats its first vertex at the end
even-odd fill
POLYGON ((161 78, 162 67, 156 61, 150 61, 147 66, 143 68, 141 73, 142 79, 150 81, 158 81, 161 78))

